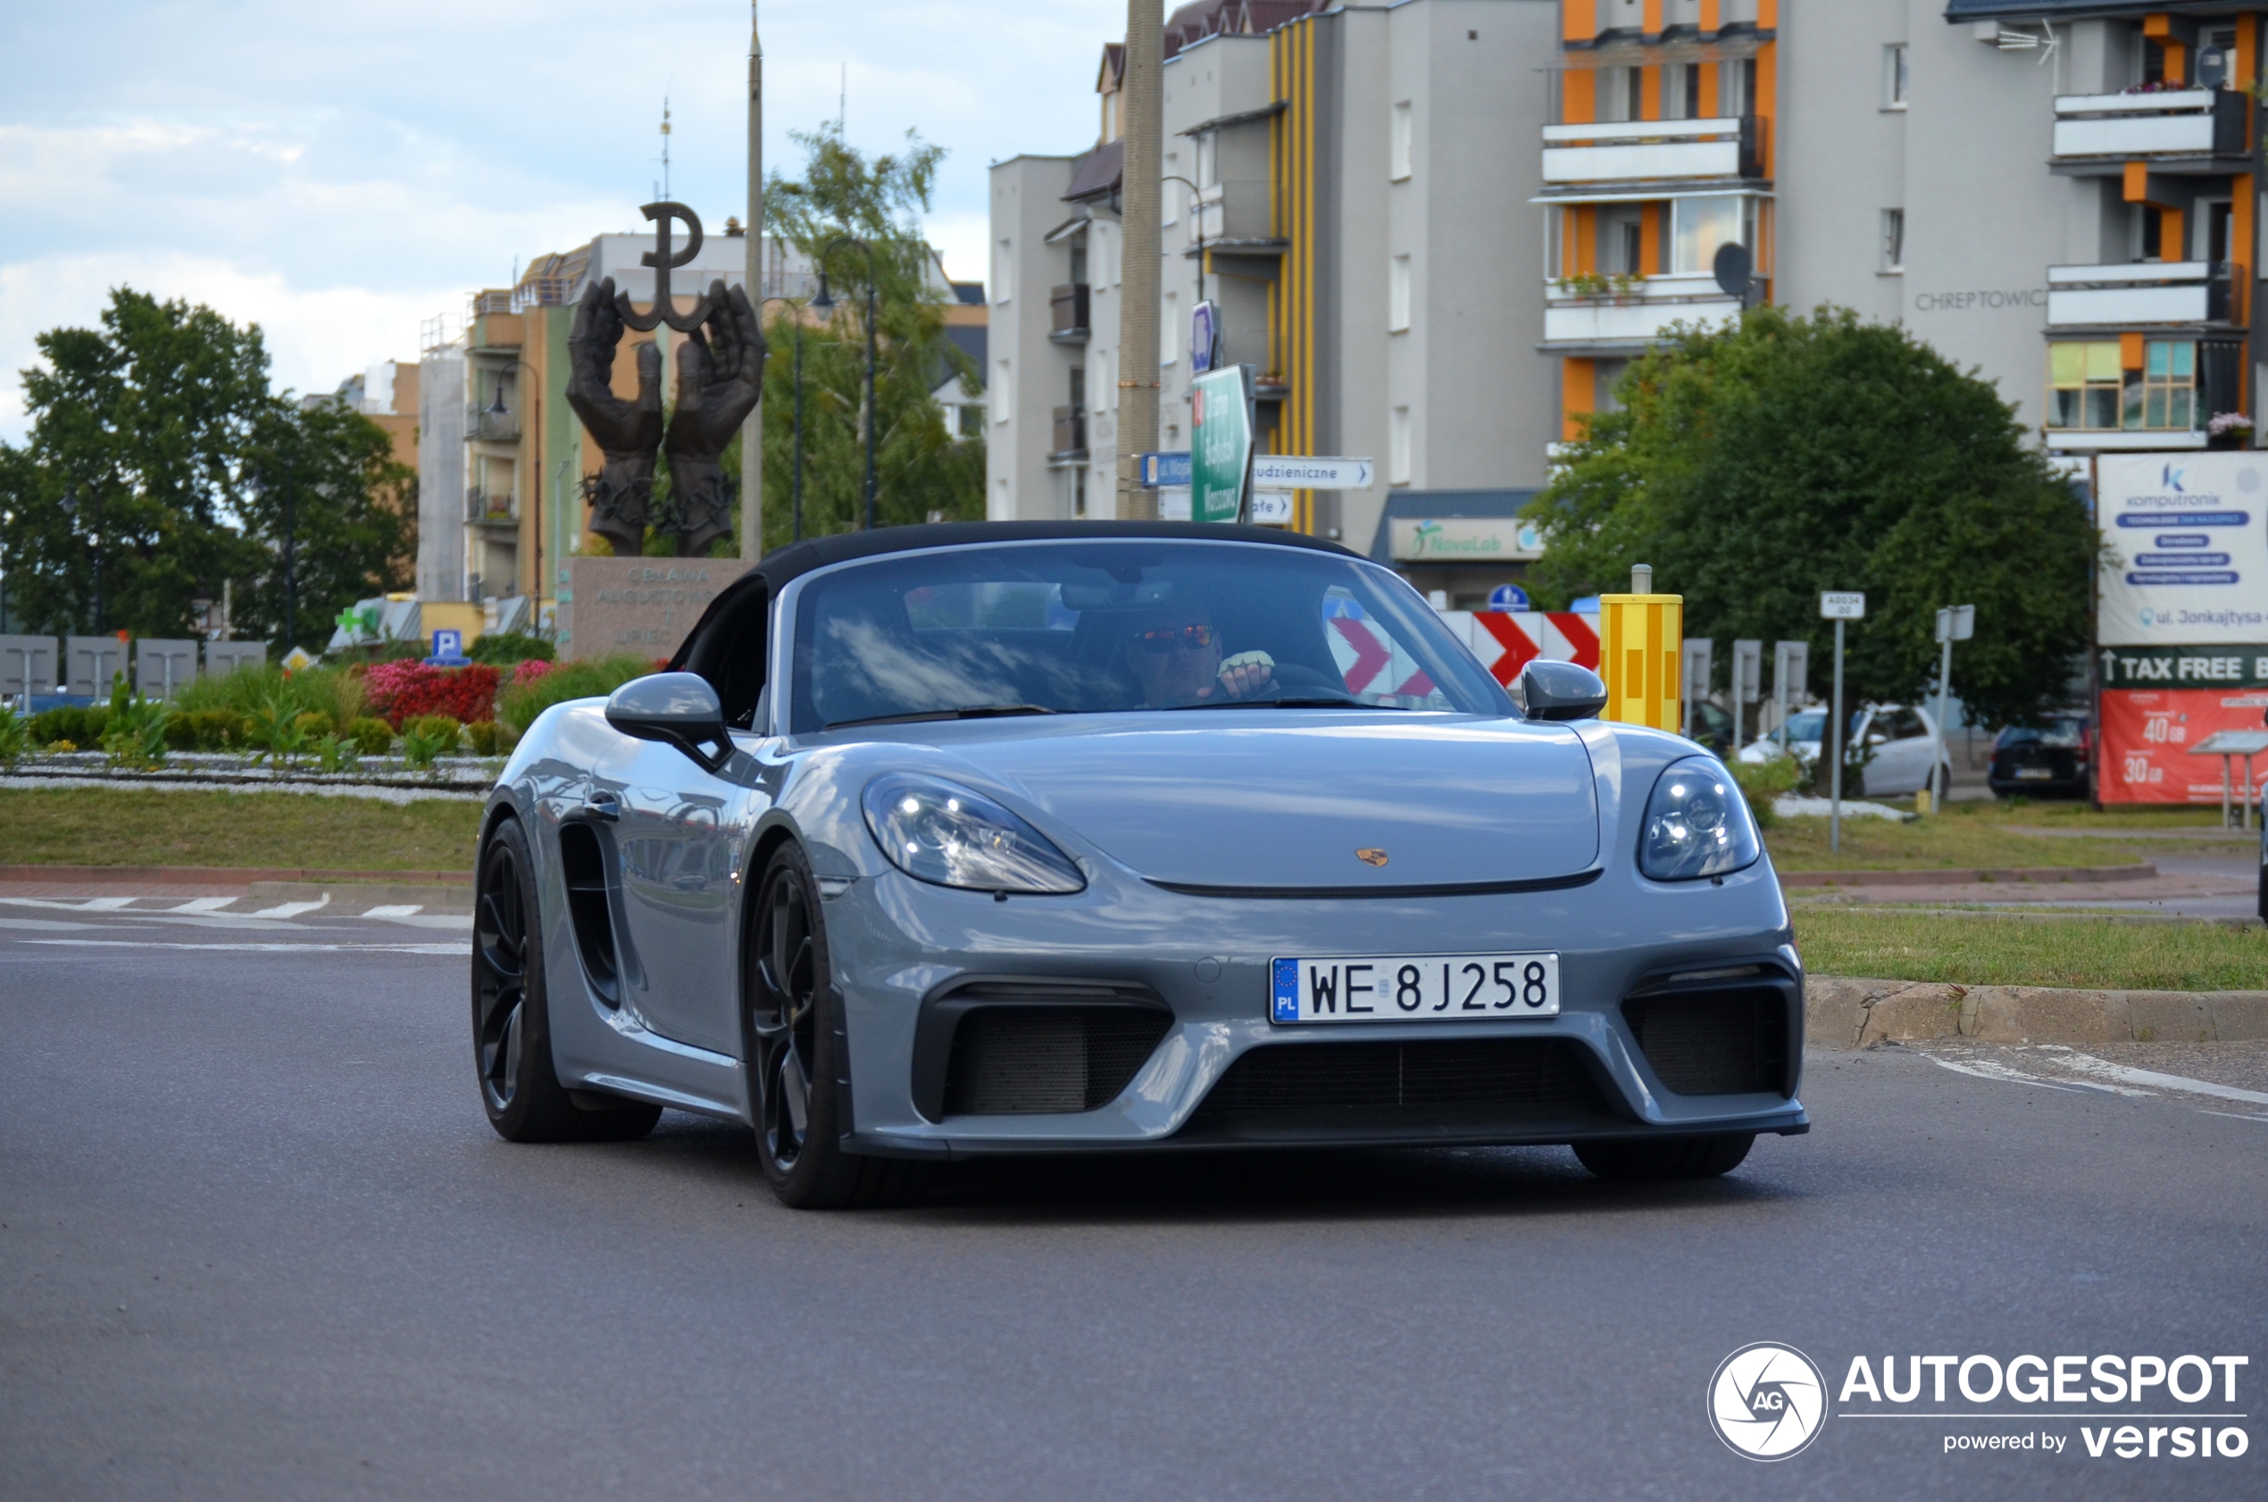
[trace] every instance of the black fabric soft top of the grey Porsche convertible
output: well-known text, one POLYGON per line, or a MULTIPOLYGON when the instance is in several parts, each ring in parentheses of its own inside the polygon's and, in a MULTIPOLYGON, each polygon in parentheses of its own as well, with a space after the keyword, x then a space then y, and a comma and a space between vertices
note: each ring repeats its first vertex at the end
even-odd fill
POLYGON ((1220 522, 934 522, 921 526, 878 526, 846 531, 832 538, 810 538, 764 554, 762 563, 728 583, 710 601, 694 628, 685 633, 669 672, 694 672, 708 678, 730 724, 748 724, 755 694, 762 690, 764 601, 780 594, 789 579, 850 558, 878 558, 921 547, 966 547, 975 542, 1082 542, 1091 538, 1175 538, 1186 542, 1268 542, 1304 547, 1340 558, 1359 558, 1338 542, 1275 526, 1236 526, 1220 522), (739 647, 739 651, 735 651, 739 647), (753 649, 753 651, 751 651, 753 649))

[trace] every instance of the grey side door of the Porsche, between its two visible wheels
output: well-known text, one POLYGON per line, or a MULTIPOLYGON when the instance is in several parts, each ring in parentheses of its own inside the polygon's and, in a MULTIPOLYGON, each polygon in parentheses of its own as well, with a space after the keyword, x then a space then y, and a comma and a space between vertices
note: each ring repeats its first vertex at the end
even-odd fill
POLYGON ((640 960, 626 1001, 667 1039, 737 1055, 733 855, 762 796, 728 780, 746 758, 717 776, 676 746, 624 740, 635 756, 594 778, 590 801, 612 803, 621 912, 640 960))

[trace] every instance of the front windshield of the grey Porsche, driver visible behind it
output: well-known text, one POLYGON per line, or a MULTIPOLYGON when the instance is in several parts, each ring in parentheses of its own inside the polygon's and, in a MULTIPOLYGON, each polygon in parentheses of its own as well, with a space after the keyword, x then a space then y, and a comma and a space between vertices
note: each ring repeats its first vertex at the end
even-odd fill
POLYGON ((1515 712, 1399 576, 1325 551, 953 547, 814 576, 796 606, 798 733, 1238 706, 1515 712))

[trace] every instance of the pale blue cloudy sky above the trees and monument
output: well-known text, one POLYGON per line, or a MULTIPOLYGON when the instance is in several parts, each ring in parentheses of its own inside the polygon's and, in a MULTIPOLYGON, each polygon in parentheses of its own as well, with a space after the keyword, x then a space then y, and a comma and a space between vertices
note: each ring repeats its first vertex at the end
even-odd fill
MULTIPOLYGON (((987 166, 1095 138, 1116 0, 764 0, 764 163, 844 111, 866 152, 946 147, 928 234, 987 275, 987 166)), ((109 288, 268 336, 277 388, 333 390, 481 286, 644 229, 669 188, 746 213, 746 0, 73 0, 0 5, 0 440, 36 334, 109 288)))

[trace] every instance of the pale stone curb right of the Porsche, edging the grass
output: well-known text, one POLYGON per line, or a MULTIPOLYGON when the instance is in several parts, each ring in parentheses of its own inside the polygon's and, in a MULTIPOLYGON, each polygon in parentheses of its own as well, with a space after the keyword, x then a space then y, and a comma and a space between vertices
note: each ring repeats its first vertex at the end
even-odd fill
POLYGON ((2080 992, 1930 980, 1803 982, 1803 1041, 2232 1044, 2268 1039, 2268 992, 2080 992))

